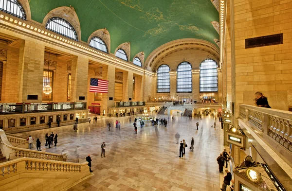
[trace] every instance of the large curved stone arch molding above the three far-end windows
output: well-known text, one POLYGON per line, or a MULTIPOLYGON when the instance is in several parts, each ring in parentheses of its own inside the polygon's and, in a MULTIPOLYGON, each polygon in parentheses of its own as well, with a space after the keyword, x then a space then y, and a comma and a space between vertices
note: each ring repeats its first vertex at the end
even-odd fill
POLYGON ((202 50, 205 50, 206 52, 212 53, 212 55, 214 55, 216 58, 219 57, 219 48, 211 42, 196 38, 183 38, 165 43, 164 45, 158 47, 153 52, 151 52, 145 61, 145 67, 152 71, 155 64, 161 59, 164 54, 167 54, 168 52, 172 52, 177 49, 182 49, 183 47, 200 48, 202 50))

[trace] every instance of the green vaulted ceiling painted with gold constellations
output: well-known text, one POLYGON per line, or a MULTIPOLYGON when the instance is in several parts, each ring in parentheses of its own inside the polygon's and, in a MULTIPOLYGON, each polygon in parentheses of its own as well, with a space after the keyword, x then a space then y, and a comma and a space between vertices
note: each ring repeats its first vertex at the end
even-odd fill
POLYGON ((130 42, 130 60, 144 51, 145 58, 157 47, 176 39, 199 38, 216 45, 219 35, 212 21, 219 13, 210 0, 30 0, 32 19, 42 23, 53 9, 73 6, 80 21, 81 40, 107 28, 110 48, 130 42))

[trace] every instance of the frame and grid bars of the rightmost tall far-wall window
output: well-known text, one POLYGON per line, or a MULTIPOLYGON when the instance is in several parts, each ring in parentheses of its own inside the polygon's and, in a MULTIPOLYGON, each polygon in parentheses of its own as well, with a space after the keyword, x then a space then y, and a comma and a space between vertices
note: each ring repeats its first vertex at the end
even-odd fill
MULTIPOLYGON (((205 60, 203 60, 200 64, 200 74, 199 74, 199 79, 200 79, 200 84, 199 84, 199 92, 200 93, 218 93, 218 63, 214 60, 214 59, 210 59, 210 58, 207 58, 205 60), (204 64, 205 61, 207 60, 210 60, 210 61, 213 61, 215 64, 216 64, 216 68, 210 68, 210 69, 201 69, 202 67, 202 64, 204 64), (216 70, 216 76, 213 75, 213 76, 201 76, 202 75, 202 71, 204 70, 216 70), (216 77, 216 90, 207 90, 207 91, 201 91, 201 89, 206 89, 206 88, 213 88, 213 87, 201 87, 201 85, 215 85, 215 83, 211 83, 211 84, 201 84, 201 78, 203 77, 216 77)), ((212 72, 212 71, 211 71, 212 72)), ((209 71, 209 74, 210 74, 210 71, 209 71)))

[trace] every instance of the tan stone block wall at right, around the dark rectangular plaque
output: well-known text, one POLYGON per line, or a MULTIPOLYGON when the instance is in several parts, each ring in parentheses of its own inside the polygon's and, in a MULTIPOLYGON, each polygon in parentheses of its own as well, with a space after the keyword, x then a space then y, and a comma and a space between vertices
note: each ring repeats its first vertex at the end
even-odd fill
MULTIPOLYGON (((231 73, 235 77, 232 83, 236 112, 239 104, 253 104, 256 91, 268 98, 272 108, 288 110, 292 104, 292 1, 232 0, 230 12, 230 15, 234 13, 234 20, 230 15, 227 18, 231 23, 231 27, 227 27, 227 42, 229 37, 231 42, 234 40, 230 52, 231 57, 235 56, 231 59, 234 72, 231 73), (280 33, 283 33, 283 44, 245 48, 246 38, 280 33)), ((227 50, 228 54, 230 49, 227 50)), ((228 96, 227 100, 230 100, 228 96)))

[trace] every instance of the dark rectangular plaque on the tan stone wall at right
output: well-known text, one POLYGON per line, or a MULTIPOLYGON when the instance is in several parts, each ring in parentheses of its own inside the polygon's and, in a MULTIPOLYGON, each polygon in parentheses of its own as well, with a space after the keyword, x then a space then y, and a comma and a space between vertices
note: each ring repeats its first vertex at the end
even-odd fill
POLYGON ((245 39, 245 48, 255 48, 283 44, 283 33, 245 39))

